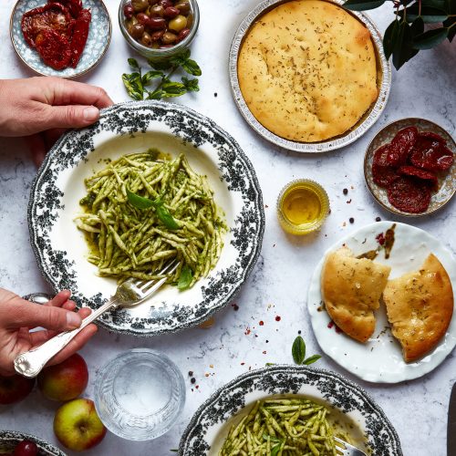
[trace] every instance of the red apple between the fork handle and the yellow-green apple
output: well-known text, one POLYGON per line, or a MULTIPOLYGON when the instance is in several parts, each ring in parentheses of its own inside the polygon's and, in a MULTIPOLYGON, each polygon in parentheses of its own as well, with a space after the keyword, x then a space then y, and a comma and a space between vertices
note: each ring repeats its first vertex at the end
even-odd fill
POLYGON ((44 368, 38 375, 38 388, 51 400, 76 399, 87 384, 87 364, 78 353, 60 364, 44 368))

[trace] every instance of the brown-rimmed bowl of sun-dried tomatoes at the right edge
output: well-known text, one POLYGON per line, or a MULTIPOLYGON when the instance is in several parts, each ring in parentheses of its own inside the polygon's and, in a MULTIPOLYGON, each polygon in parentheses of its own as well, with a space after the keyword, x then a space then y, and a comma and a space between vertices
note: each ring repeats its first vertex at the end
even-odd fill
POLYGON ((456 143, 427 119, 390 123, 370 142, 364 159, 368 189, 385 209, 404 216, 440 209, 456 192, 456 143))

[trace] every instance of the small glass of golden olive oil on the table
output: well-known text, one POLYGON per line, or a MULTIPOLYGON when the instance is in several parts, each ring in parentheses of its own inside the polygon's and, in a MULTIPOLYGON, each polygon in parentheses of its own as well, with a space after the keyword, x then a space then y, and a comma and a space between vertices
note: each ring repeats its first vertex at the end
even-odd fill
POLYGON ((325 189, 315 181, 290 182, 277 199, 277 216, 290 234, 308 234, 318 230, 329 212, 325 189))

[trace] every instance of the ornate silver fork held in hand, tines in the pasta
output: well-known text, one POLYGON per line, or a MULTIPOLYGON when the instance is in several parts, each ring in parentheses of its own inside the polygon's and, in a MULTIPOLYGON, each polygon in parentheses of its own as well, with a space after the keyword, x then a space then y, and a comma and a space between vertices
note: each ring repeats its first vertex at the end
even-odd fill
MULTIPOLYGON (((166 264, 159 275, 172 274, 178 265, 179 262, 177 260, 166 264)), ((150 281, 130 278, 118 286, 115 295, 112 295, 107 303, 98 307, 87 318, 84 318, 81 326, 77 329, 57 334, 56 337, 47 340, 43 345, 18 355, 15 359, 16 372, 26 378, 36 377, 50 358, 55 357, 60 350, 67 347, 68 343, 89 323, 96 320, 98 316, 118 307, 138 306, 155 293, 166 280, 167 277, 150 281)))

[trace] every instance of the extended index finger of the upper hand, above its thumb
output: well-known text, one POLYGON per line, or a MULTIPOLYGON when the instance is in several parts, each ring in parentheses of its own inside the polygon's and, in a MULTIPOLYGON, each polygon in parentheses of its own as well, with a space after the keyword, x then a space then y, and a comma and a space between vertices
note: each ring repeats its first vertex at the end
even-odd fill
POLYGON ((61 78, 52 78, 52 83, 52 105, 85 105, 102 109, 114 104, 103 88, 61 78))

